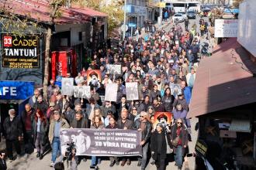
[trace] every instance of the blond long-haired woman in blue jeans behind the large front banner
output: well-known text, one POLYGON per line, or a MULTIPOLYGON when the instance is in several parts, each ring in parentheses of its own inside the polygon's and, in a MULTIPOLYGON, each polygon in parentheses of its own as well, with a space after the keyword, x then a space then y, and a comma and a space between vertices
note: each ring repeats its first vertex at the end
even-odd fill
MULTIPOLYGON (((103 129, 105 128, 104 123, 102 122, 102 119, 99 115, 96 115, 95 117, 92 118, 92 125, 91 129, 103 129)), ((100 164, 101 158, 92 156, 92 163, 90 168, 95 168, 97 164, 100 164)))

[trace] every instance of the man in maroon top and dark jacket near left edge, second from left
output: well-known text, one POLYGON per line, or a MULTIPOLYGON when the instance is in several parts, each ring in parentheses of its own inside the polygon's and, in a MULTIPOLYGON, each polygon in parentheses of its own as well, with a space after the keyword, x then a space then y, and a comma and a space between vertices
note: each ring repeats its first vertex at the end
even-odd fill
POLYGON ((24 144, 26 154, 31 154, 33 152, 33 120, 36 114, 30 104, 25 105, 25 110, 22 112, 21 121, 24 134, 24 144))

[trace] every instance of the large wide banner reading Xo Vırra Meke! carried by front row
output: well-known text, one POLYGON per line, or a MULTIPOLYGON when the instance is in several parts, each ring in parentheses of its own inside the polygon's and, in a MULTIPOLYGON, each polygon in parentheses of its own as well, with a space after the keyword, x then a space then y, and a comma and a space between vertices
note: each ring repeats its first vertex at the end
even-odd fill
POLYGON ((123 129, 62 129, 61 152, 74 142, 76 155, 137 156, 142 155, 140 131, 123 129))

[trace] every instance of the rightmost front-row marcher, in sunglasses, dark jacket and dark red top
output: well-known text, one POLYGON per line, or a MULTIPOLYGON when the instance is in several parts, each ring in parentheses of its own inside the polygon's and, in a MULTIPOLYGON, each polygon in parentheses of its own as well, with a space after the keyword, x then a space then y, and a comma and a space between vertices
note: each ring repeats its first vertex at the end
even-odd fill
POLYGON ((178 170, 182 169, 183 157, 185 155, 185 149, 188 147, 188 141, 188 131, 185 128, 183 120, 178 118, 171 127, 171 144, 173 145, 175 165, 178 166, 178 170))

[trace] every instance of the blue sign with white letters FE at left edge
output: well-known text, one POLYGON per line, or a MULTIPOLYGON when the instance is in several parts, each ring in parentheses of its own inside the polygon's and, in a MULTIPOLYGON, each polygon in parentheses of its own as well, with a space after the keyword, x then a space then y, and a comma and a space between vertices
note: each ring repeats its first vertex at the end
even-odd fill
POLYGON ((34 82, 0 81, 0 100, 25 100, 33 96, 34 82))

